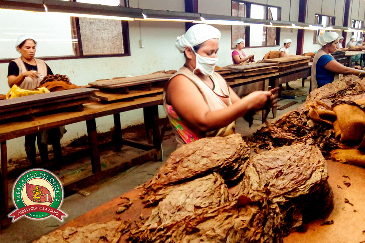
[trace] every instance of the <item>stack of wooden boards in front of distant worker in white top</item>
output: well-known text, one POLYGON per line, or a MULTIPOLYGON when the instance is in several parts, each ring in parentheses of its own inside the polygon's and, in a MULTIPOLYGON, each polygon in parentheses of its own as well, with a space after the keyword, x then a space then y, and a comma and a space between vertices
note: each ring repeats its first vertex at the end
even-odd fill
POLYGON ((280 58, 263 60, 264 63, 276 63, 279 72, 287 71, 297 67, 308 66, 310 56, 293 55, 280 58))

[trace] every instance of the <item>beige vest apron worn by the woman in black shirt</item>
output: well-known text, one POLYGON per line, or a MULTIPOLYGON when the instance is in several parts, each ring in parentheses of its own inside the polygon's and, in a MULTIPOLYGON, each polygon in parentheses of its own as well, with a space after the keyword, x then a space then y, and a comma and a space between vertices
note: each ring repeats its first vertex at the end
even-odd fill
MULTIPOLYGON (((47 75, 47 66, 46 63, 43 60, 34 58, 35 63, 37 65, 38 74, 42 76, 47 75)), ((23 61, 21 58, 17 58, 13 60, 13 62, 16 63, 19 67, 19 74, 22 74, 23 72, 27 72, 27 68, 25 67, 23 61)), ((39 83, 41 83, 40 78, 31 78, 31 77, 25 77, 23 82, 19 85, 20 89, 35 89, 39 87, 39 83)))

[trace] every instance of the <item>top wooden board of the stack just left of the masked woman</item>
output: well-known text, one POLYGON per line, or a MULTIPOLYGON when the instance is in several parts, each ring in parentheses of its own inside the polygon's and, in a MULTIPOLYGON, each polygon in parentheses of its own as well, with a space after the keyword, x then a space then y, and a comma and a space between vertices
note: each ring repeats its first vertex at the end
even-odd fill
POLYGON ((136 77, 128 77, 128 78, 117 78, 117 79, 105 79, 97 82, 89 83, 89 85, 99 88, 107 88, 107 89, 116 89, 121 87, 135 86, 135 85, 143 85, 145 83, 157 82, 157 81, 166 81, 168 80, 172 74, 165 73, 155 73, 148 75, 141 75, 136 77))

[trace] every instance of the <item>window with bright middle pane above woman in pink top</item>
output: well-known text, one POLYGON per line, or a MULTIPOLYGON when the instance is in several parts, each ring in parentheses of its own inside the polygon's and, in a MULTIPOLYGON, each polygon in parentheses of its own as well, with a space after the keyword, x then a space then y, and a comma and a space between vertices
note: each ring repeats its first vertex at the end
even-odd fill
MULTIPOLYGON (((281 8, 246 1, 231 1, 231 15, 251 19, 280 20, 281 8)), ((255 26, 232 26, 231 48, 238 38, 245 40, 245 47, 276 46, 279 44, 280 28, 255 26), (250 38, 251 37, 251 38, 250 38)))

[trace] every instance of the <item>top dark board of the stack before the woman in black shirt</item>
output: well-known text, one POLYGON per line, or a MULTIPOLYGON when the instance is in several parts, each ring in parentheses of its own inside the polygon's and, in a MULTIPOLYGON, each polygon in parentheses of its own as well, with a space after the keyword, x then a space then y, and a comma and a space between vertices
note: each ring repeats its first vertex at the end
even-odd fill
POLYGON ((52 103, 62 99, 80 99, 81 96, 91 96, 98 89, 78 88, 70 90, 61 90, 45 94, 28 95, 13 99, 0 100, 0 112, 5 109, 13 108, 14 110, 23 109, 30 106, 37 106, 39 103, 52 103))

